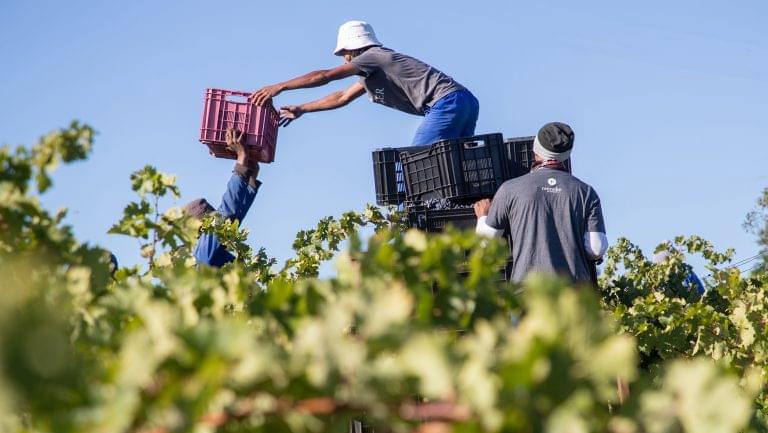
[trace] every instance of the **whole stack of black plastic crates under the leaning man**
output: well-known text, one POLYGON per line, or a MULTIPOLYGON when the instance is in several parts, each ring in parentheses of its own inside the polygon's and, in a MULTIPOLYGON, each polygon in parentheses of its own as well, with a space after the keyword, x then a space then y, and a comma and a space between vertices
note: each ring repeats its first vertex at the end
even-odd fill
MULTIPOLYGON (((533 137, 504 140, 500 133, 378 149, 373 152, 376 203, 401 207, 412 227, 427 232, 449 225, 474 229, 472 204, 528 173, 533 161, 533 137)), ((566 165, 570 171, 570 160, 566 165)))

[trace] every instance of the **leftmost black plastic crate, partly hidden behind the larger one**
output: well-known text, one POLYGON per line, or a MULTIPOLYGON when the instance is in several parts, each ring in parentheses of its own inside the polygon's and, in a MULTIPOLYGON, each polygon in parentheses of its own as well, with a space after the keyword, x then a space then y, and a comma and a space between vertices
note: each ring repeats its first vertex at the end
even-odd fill
POLYGON ((398 205, 405 201, 405 181, 401 152, 418 152, 429 146, 385 147, 376 149, 373 157, 373 180, 376 186, 376 204, 398 205))

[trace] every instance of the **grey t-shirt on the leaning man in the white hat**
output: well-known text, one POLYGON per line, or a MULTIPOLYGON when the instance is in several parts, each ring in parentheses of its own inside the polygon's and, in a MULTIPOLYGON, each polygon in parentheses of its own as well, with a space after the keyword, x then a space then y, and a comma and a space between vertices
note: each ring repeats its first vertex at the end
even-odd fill
POLYGON ((371 47, 352 64, 371 101, 410 114, 423 116, 438 99, 464 89, 432 66, 389 48, 371 47))

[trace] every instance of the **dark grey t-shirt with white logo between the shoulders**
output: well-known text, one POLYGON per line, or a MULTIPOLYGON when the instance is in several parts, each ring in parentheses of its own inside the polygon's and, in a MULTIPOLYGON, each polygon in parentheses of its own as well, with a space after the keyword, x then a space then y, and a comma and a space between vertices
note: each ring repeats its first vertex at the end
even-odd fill
POLYGON ((595 190, 570 173, 549 168, 504 182, 486 224, 509 230, 510 279, 517 282, 531 271, 589 281, 584 234, 605 233, 595 190))

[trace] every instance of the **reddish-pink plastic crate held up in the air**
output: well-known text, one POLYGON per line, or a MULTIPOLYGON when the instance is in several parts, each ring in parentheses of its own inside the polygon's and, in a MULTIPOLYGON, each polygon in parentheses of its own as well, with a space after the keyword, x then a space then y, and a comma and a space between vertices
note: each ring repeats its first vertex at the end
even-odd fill
POLYGON ((244 131, 243 144, 255 161, 275 160, 280 116, 271 103, 257 107, 247 101, 249 93, 206 89, 200 141, 217 158, 237 159, 227 148, 227 128, 244 131))

